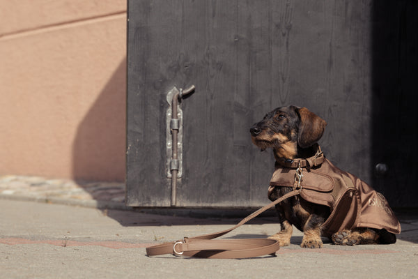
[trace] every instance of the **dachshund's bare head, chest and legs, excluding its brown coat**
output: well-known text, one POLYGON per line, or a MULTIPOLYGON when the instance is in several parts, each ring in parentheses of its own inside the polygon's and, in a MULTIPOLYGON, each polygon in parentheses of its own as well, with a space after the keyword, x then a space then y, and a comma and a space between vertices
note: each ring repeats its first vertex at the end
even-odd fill
MULTIPOLYGON (((318 152, 318 144, 316 143, 323 136, 326 125, 325 120, 305 107, 292 105, 278 107, 251 127, 251 140, 261 151, 268 148, 273 149, 277 167, 279 162, 315 156, 318 152)), ((278 199, 293 190, 292 187, 286 186, 270 188, 269 198, 271 200, 278 199)), ((291 241, 293 225, 295 225, 297 229, 304 232, 302 247, 323 247, 321 239, 321 236, 324 236, 323 224, 330 217, 330 206, 314 204, 297 195, 280 202, 276 209, 281 230, 270 236, 271 239, 279 241, 281 246, 288 246, 291 241)), ((390 211, 392 212, 392 210, 390 211)), ((398 229, 400 232, 400 226, 398 229)), ((387 232, 387 229, 370 227, 341 229, 325 236, 330 237, 335 244, 352 246, 366 243, 395 243, 396 241, 395 234, 387 232)))

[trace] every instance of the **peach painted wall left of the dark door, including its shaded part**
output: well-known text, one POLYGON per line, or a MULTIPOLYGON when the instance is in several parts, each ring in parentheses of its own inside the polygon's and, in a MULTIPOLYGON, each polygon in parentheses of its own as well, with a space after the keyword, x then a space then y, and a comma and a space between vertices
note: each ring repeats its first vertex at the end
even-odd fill
POLYGON ((0 0, 0 175, 125 179, 125 0, 0 0))

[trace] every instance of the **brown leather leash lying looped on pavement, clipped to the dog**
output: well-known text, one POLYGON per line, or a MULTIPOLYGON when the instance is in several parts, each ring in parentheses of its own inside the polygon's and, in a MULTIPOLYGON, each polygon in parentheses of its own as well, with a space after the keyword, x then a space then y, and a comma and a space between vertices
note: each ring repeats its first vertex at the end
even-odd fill
POLYGON ((146 255, 157 256, 172 254, 210 259, 244 259, 263 255, 275 255, 280 246, 279 242, 274 239, 214 239, 233 231, 233 229, 236 229, 241 225, 244 225, 249 220, 255 218, 267 209, 270 209, 272 206, 284 201, 284 199, 299 195, 300 190, 301 189, 293 190, 279 199, 276 199, 274 202, 271 202, 270 204, 263 206, 261 209, 254 211, 230 229, 190 238, 185 237, 180 241, 172 241, 151 246, 146 248, 146 255))

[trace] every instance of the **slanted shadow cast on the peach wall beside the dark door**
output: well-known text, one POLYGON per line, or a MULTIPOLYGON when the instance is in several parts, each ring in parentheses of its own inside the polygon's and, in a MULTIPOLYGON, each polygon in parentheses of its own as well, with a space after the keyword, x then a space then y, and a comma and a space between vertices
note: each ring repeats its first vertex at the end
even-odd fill
POLYGON ((72 176, 82 186, 83 181, 125 181, 125 114, 126 57, 77 128, 72 176))

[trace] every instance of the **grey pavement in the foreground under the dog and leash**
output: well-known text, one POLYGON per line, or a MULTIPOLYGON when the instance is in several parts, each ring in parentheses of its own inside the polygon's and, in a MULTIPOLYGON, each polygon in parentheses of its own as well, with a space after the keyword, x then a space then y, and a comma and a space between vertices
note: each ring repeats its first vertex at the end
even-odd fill
MULTIPOLYGON (((418 217, 411 213, 398 214, 402 233, 393 245, 327 242, 322 249, 304 249, 295 229, 291 246, 277 257, 147 257, 146 246, 218 232, 239 220, 112 209, 109 199, 96 209, 94 202, 77 204, 73 197, 39 199, 10 190, 0 195, 0 278, 418 278, 418 217)), ((261 238, 278 229, 275 218, 261 217, 224 238, 261 238)))

